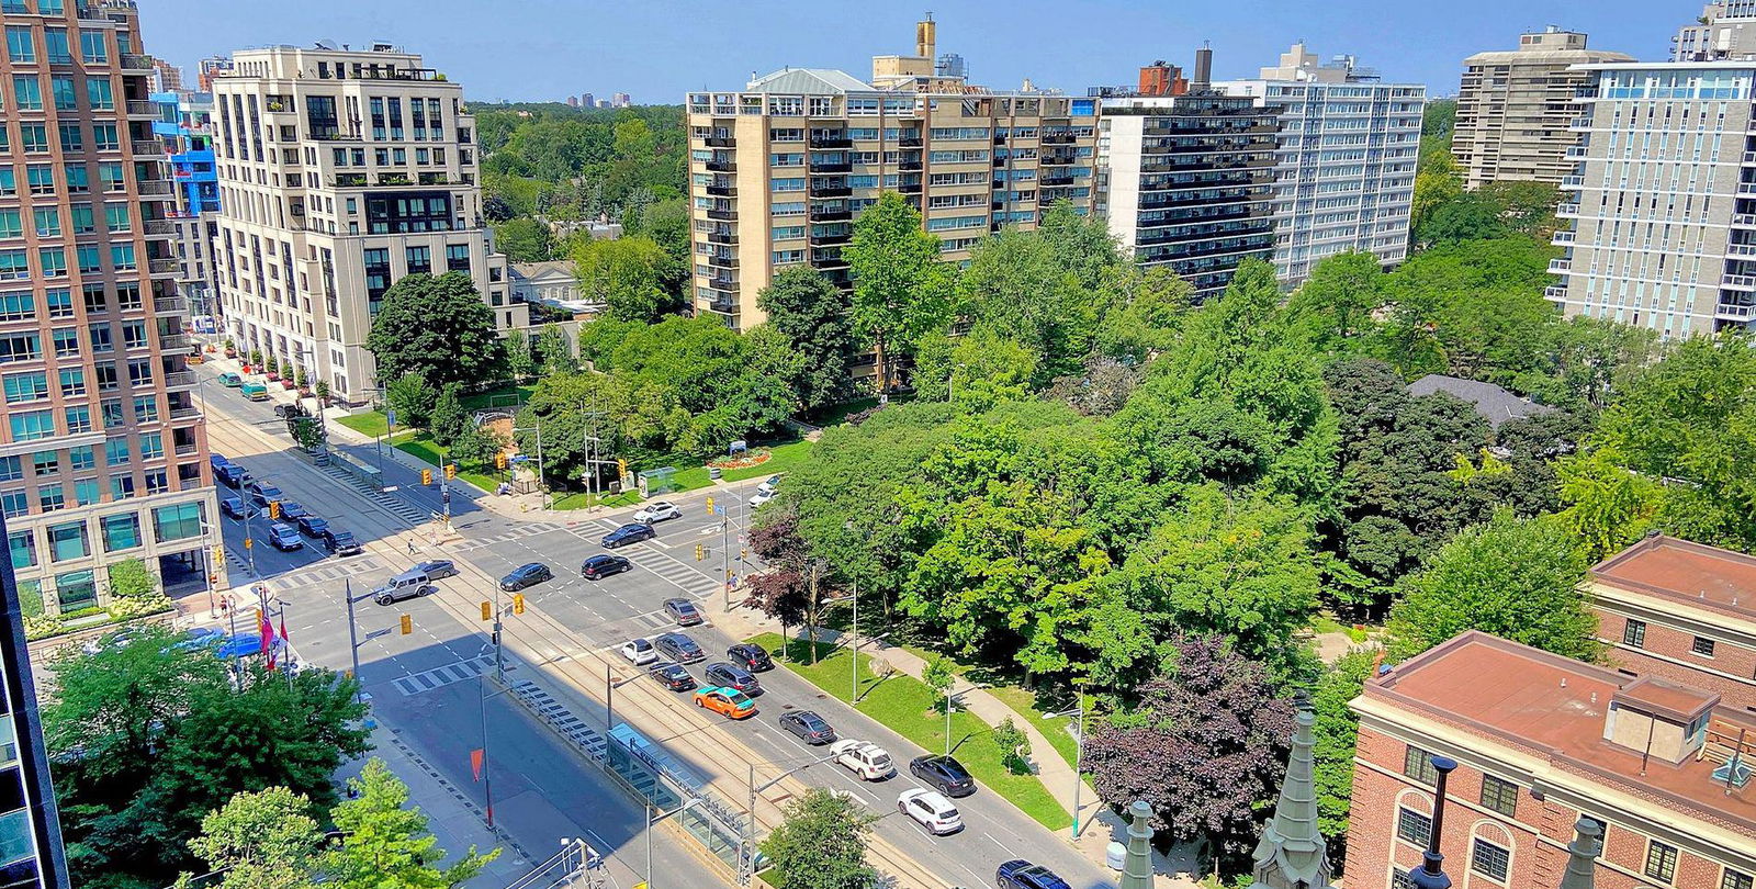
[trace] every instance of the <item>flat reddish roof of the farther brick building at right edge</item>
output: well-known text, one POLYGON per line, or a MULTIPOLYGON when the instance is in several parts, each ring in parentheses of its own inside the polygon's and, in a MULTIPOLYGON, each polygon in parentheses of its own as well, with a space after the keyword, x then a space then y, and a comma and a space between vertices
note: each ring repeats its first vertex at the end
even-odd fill
POLYGON ((1756 557, 1717 546, 1658 534, 1593 566, 1591 580, 1756 618, 1756 557))

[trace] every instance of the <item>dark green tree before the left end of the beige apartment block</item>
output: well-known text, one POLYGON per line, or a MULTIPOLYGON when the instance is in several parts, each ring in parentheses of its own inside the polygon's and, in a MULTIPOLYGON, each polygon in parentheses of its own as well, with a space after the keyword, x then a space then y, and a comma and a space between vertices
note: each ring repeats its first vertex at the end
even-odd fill
POLYGON ((846 399, 855 350, 848 297, 817 269, 790 265, 757 293, 757 306, 767 313, 766 325, 780 330, 804 358, 790 379, 804 408, 846 399))

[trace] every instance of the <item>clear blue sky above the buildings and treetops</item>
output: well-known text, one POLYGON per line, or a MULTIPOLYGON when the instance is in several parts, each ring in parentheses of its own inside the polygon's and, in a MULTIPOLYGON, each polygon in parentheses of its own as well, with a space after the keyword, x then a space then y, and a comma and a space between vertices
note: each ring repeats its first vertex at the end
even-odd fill
POLYGON ((1292 40, 1354 53, 1385 79, 1457 90, 1461 61, 1510 49, 1554 23, 1591 46, 1658 60, 1698 0, 139 0, 149 53, 193 70, 248 46, 392 40, 462 81, 469 98, 558 100, 625 91, 681 102, 736 90, 783 65, 869 74, 874 53, 911 53, 932 9, 939 51, 976 83, 1083 93, 1133 83, 1155 58, 1184 63, 1212 40, 1215 76, 1254 76, 1292 40))

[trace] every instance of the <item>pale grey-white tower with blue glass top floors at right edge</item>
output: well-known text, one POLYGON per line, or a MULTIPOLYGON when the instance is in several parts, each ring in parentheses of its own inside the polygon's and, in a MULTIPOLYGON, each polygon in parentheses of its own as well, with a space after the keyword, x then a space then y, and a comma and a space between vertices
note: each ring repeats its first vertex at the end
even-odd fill
POLYGON ((1547 290, 1566 314, 1663 337, 1756 318, 1756 61, 1584 65, 1547 290))

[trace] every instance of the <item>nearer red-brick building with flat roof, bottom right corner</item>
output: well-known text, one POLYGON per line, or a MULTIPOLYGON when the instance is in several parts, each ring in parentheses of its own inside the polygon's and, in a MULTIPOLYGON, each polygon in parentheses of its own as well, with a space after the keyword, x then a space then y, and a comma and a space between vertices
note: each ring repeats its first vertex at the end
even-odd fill
POLYGON ((1751 889, 1756 715, 1719 694, 1466 632, 1366 683, 1347 889, 1403 889, 1431 835, 1459 889, 1559 885, 1573 824, 1603 826, 1596 889, 1751 889), (1745 785, 1716 777, 1742 748, 1745 785))

